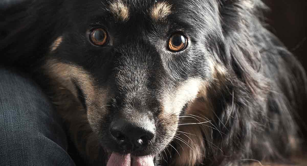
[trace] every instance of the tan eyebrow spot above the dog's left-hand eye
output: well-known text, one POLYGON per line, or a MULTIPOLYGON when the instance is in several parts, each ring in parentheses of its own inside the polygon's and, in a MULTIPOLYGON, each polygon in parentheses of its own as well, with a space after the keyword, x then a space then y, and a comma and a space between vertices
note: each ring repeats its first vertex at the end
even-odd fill
POLYGON ((121 21, 128 21, 130 10, 128 6, 126 6, 122 0, 117 0, 116 2, 112 2, 110 4, 110 11, 114 14, 116 19, 121 21))

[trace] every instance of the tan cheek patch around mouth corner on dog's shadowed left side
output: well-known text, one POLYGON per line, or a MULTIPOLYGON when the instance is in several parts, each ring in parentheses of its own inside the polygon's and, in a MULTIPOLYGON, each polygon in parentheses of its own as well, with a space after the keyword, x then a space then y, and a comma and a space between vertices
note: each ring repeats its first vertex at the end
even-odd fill
POLYGON ((52 80, 57 80, 57 82, 61 83, 61 86, 57 87, 57 91, 70 91, 75 99, 78 100, 80 97, 78 88, 80 88, 87 107, 87 120, 94 131, 98 132, 101 130, 101 126, 108 114, 107 110, 109 107, 107 103, 111 100, 112 96, 108 88, 95 86, 95 79, 87 71, 83 70, 81 66, 49 59, 46 61, 44 69, 52 80))

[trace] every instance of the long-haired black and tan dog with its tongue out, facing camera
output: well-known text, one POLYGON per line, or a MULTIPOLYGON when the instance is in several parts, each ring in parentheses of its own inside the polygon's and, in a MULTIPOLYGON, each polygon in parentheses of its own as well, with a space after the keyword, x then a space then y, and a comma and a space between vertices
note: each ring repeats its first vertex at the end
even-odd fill
POLYGON ((1 63, 46 89, 87 165, 239 166, 301 145, 301 64, 260 0, 22 1, 1 63))

